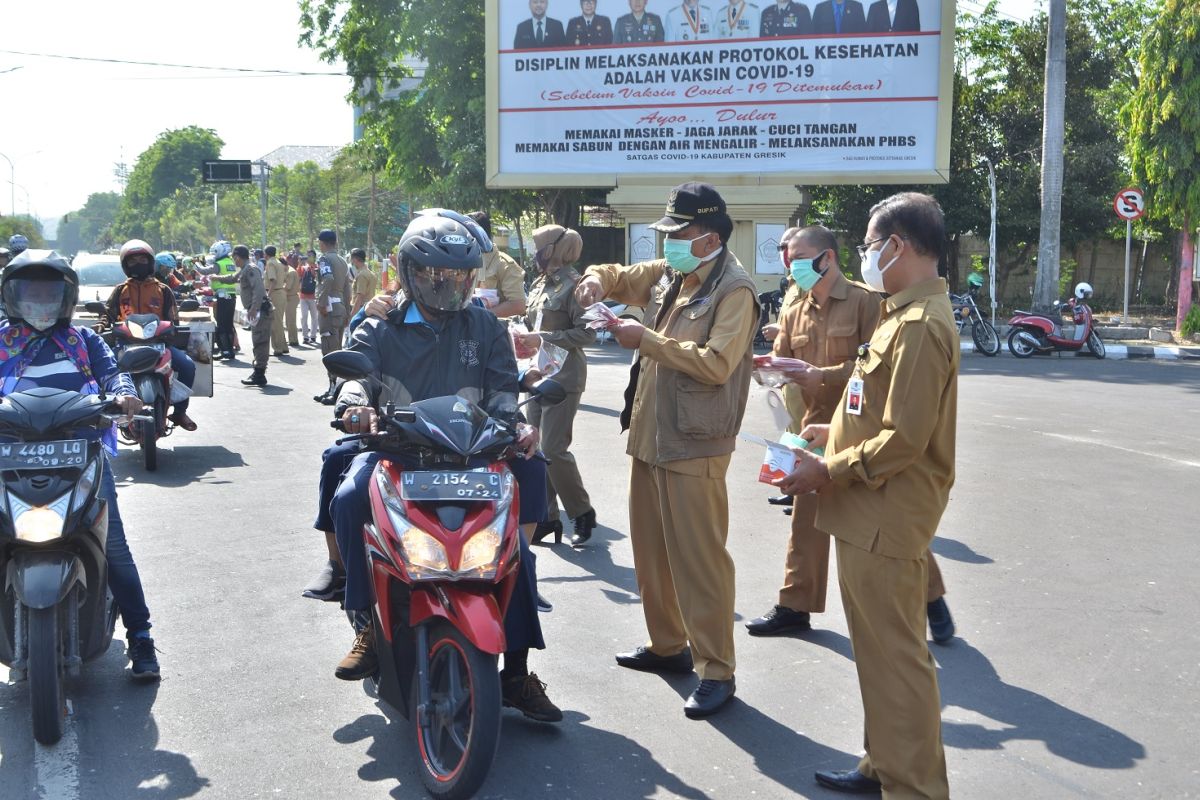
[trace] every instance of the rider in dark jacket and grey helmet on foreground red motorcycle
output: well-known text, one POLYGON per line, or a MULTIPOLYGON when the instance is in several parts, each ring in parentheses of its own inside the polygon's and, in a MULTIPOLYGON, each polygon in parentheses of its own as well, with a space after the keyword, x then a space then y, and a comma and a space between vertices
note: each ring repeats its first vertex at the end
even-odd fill
MULTIPOLYGON (((491 240, 474 221, 454 211, 420 213, 400 240, 400 276, 406 299, 386 320, 368 318, 354 332, 352 350, 374 365, 367 386, 343 385, 335 408, 348 433, 376 431, 374 408, 388 401, 397 405, 430 397, 461 395, 479 403, 492 416, 520 422, 517 369, 504 324, 470 302, 481 253, 491 240)), ((517 445, 532 455, 538 432, 520 425, 517 445)), ((368 485, 379 453, 354 458, 334 494, 331 513, 338 551, 346 565, 348 612, 371 606, 371 589, 362 525, 368 521, 368 485)), ((558 722, 563 712, 546 697, 545 684, 528 672, 529 648, 544 648, 536 609, 533 553, 521 537, 521 576, 505 615, 504 704, 542 722, 558 722)), ((335 674, 360 680, 378 666, 373 625, 359 632, 350 652, 335 674)))

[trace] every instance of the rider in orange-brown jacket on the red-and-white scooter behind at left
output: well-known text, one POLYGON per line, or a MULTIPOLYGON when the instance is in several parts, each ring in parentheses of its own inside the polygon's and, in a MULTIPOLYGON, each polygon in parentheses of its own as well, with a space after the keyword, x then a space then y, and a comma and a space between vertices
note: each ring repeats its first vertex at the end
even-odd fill
MULTIPOLYGON (((174 269, 175 258, 166 254, 174 269)), ((155 277, 158 269, 154 248, 140 239, 131 239, 121 245, 121 271, 125 283, 113 289, 106 303, 104 318, 109 325, 125 320, 130 314, 154 314, 158 319, 179 324, 175 293, 155 277)), ((170 368, 185 386, 196 384, 196 362, 182 349, 170 345, 170 368)), ((194 431, 196 422, 187 416, 190 398, 185 397, 174 404, 175 410, 167 419, 184 431, 194 431)))

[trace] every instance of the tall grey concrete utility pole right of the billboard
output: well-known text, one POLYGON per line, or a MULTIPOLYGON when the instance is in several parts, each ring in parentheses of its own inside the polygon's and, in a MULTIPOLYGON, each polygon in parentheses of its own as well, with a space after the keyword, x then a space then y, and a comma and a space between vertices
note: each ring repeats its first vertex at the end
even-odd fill
POLYGON ((1042 231, 1034 311, 1049 312, 1058 299, 1058 240, 1062 223, 1063 108, 1067 100, 1067 0, 1050 0, 1046 74, 1042 115, 1042 231))

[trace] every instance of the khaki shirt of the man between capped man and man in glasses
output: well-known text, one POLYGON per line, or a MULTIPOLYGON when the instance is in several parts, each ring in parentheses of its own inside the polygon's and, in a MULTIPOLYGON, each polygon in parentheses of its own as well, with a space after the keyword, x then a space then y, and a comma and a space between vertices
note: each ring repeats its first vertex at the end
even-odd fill
POLYGON ((858 345, 871 338, 878 323, 880 295, 862 283, 851 283, 841 272, 835 272, 824 303, 817 303, 808 291, 780 315, 774 355, 802 359, 821 369, 821 387, 812 393, 800 390, 805 408, 802 429, 833 419, 858 345))

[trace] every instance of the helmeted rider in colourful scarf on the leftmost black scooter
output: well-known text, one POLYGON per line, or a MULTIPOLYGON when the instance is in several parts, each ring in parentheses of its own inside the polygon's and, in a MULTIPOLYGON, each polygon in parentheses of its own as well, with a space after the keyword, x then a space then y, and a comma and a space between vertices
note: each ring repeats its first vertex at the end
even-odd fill
MULTIPOLYGON (((142 409, 133 381, 118 371, 116 359, 100 335, 90 327, 71 325, 79 279, 65 258, 54 251, 26 249, 0 273, 0 296, 8 309, 8 319, 0 323, 0 343, 4 344, 0 397, 38 386, 95 395, 103 386, 126 414, 142 409)), ((115 445, 115 437, 106 435, 104 449, 109 456, 116 452, 115 445)), ((125 540, 116 486, 107 458, 100 497, 108 504, 108 585, 121 609, 133 679, 157 680, 150 610, 125 540)))

